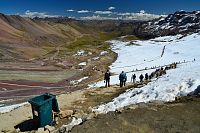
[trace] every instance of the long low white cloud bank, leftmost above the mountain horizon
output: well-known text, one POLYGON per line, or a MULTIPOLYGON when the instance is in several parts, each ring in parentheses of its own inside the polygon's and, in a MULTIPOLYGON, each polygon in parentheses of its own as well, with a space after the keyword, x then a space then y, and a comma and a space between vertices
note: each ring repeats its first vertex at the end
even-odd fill
POLYGON ((27 10, 24 15, 21 15, 22 17, 29 17, 29 18, 34 18, 34 17, 39 17, 39 18, 53 18, 53 17, 60 17, 60 15, 49 15, 46 12, 31 12, 30 10, 27 10))

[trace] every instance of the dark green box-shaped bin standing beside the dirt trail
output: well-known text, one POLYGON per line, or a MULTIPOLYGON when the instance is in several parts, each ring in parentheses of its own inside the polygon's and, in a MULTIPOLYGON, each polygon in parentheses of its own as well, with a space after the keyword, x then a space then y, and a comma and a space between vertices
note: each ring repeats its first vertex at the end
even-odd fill
POLYGON ((33 119, 37 127, 53 123, 53 112, 59 112, 56 96, 45 93, 29 100, 32 107, 33 119))

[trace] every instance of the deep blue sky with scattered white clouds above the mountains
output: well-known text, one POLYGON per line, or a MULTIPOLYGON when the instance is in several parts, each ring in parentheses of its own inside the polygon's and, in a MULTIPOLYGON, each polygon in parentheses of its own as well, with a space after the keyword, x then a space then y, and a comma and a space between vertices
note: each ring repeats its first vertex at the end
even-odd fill
POLYGON ((0 0, 0 12, 5 14, 108 17, 113 12, 116 16, 117 13, 137 13, 141 10, 149 14, 200 10, 200 0, 0 0), (109 10, 109 7, 113 8, 109 10))

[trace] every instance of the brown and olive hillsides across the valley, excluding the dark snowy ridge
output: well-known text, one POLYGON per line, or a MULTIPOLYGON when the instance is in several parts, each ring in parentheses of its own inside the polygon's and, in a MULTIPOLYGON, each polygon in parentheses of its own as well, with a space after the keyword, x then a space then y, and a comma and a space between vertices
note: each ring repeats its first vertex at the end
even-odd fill
MULTIPOLYGON (((31 19, 0 14, 0 59, 12 61, 52 56, 58 47, 71 49, 70 43, 85 35, 99 43, 99 38, 108 40, 133 34, 133 28, 132 22, 123 21, 80 21, 67 17, 31 19)), ((86 39, 83 38, 82 43, 83 40, 90 42, 88 37, 86 39)))

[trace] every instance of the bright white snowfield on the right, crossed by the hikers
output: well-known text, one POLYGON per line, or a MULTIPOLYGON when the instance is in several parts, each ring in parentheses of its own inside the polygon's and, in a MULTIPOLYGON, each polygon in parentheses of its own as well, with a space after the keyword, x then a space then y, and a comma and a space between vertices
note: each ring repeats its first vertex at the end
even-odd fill
MULTIPOLYGON (((159 37, 148 41, 130 42, 111 41, 113 50, 118 53, 118 59, 112 64, 111 72, 119 74, 122 70, 128 72, 133 69, 140 70, 153 66, 163 66, 173 62, 185 62, 179 64, 177 69, 167 71, 167 74, 159 79, 154 79, 142 88, 130 89, 113 101, 95 107, 93 111, 106 113, 117 108, 140 102, 153 100, 172 101, 176 96, 186 95, 200 85, 200 34, 192 34, 186 37, 181 35, 159 37), (164 49, 164 54, 162 50, 164 49), (194 61, 195 59, 195 61, 194 61), (125 66, 125 67, 124 67, 125 66)), ((130 77, 133 73, 139 74, 154 71, 142 70, 127 73, 130 77)), ((118 83, 118 75, 111 77, 111 83, 118 83)), ((103 81, 95 84, 104 85, 103 81)))

